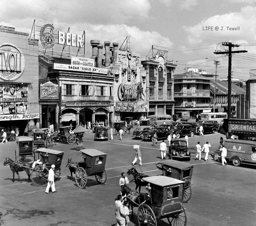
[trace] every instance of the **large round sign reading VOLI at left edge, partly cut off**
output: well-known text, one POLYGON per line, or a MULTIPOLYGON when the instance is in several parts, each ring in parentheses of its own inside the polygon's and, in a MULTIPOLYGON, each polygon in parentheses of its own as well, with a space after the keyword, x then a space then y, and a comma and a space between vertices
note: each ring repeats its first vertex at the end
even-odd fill
POLYGON ((0 78, 11 81, 19 78, 25 68, 22 51, 13 44, 0 45, 0 78))

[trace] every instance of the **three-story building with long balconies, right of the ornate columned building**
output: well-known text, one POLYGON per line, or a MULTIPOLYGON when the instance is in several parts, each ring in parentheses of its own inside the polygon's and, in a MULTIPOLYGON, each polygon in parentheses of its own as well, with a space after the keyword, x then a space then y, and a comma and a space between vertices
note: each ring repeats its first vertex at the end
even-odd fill
POLYGON ((176 111, 189 111, 195 119, 199 112, 211 111, 210 78, 185 72, 174 75, 174 100, 176 111))

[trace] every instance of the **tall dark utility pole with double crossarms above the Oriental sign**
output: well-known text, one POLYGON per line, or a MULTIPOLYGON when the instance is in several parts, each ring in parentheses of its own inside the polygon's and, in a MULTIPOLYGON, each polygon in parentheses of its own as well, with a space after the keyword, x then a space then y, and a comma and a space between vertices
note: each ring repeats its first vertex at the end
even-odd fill
POLYGON ((223 52, 214 52, 214 54, 227 54, 229 56, 229 69, 228 69, 228 91, 227 91, 227 118, 231 119, 231 62, 232 62, 232 54, 234 53, 247 53, 247 50, 238 50, 232 51, 233 47, 239 47, 239 45, 234 45, 231 42, 222 42, 223 46, 228 46, 229 50, 223 52))

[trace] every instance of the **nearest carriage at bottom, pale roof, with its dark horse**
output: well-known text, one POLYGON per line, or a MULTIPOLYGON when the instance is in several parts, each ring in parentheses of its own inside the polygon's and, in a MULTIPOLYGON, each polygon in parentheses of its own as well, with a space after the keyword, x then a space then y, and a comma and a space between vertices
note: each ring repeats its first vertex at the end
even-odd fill
POLYGON ((146 190, 149 194, 136 194, 126 185, 122 186, 131 208, 138 207, 138 224, 157 226, 158 219, 167 218, 171 226, 186 226, 187 216, 182 202, 184 181, 165 176, 143 180, 148 183, 146 190))

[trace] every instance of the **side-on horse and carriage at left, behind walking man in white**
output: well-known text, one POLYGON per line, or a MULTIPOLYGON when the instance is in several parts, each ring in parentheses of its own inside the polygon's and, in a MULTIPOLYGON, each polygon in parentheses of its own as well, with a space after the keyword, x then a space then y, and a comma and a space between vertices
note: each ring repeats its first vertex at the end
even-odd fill
MULTIPOLYGON (((21 140, 21 144, 22 143, 23 143, 23 140, 21 140)), ((49 169, 53 164, 55 165, 55 170, 54 170, 55 179, 58 179, 59 176, 61 175, 61 162, 62 162, 64 152, 47 149, 47 148, 38 148, 36 151, 33 151, 33 152, 38 153, 38 159, 40 159, 40 162, 35 167, 32 167, 33 162, 35 162, 35 154, 33 154, 34 161, 31 161, 31 162, 20 162, 18 160, 13 161, 9 158, 6 158, 3 165, 10 166, 11 171, 13 171, 13 181, 14 181, 14 173, 16 172, 20 182, 22 182, 18 172, 25 170, 27 173, 27 176, 29 177, 29 182, 31 177, 35 185, 46 186, 48 183, 49 169)), ((21 154, 22 153, 20 152, 19 155, 21 154)))

